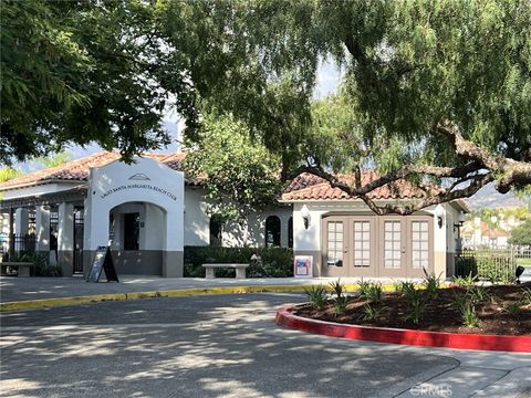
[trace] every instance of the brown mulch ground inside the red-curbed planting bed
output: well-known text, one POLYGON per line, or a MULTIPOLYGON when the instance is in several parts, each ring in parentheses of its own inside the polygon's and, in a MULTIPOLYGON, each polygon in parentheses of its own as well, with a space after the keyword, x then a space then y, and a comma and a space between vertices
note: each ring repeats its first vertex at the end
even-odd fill
POLYGON ((522 303, 525 287, 531 287, 531 283, 486 286, 490 297, 483 303, 476 304, 476 312, 480 320, 477 327, 467 327, 462 324, 461 313, 456 305, 456 296, 466 294, 462 287, 441 289, 436 298, 427 298, 427 292, 423 291, 426 304, 423 318, 418 324, 405 320, 408 303, 400 293, 395 292, 384 293, 381 304, 372 304, 381 308, 379 317, 374 321, 363 320, 363 307, 368 304, 368 301, 356 295, 348 297, 346 312, 340 316, 335 315, 332 301, 327 301, 322 310, 302 304, 296 306, 293 313, 303 317, 343 324, 522 336, 531 335, 531 305, 522 303), (514 304, 519 308, 518 312, 510 311, 514 304))

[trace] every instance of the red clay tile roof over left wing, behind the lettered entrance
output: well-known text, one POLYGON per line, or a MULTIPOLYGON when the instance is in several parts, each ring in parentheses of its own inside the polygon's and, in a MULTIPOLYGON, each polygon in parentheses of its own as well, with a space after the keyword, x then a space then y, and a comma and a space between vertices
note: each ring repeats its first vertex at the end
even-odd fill
MULTIPOLYGON (((186 154, 144 154, 143 156, 156 159, 174 170, 181 170, 181 161, 186 154)), ((101 151, 81 159, 67 161, 63 165, 44 170, 33 171, 24 176, 13 178, 0 184, 0 189, 46 184, 54 180, 61 181, 86 181, 88 170, 92 167, 101 167, 119 159, 118 153, 101 151)))

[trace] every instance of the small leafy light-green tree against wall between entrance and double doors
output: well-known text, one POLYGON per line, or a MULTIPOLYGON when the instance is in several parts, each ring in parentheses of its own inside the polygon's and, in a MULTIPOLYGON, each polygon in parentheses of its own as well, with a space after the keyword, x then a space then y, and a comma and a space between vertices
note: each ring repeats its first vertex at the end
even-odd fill
POLYGON ((249 129, 230 117, 208 117, 200 142, 185 159, 186 170, 204 181, 209 211, 225 220, 246 220, 251 210, 280 192, 279 159, 249 129))

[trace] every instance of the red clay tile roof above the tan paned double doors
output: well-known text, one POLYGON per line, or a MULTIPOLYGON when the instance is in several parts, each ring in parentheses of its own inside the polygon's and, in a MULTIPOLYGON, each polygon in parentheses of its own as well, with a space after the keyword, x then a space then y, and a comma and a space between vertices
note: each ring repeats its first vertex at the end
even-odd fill
MULTIPOLYGON (((339 175, 340 180, 353 184, 353 175, 339 175)), ((362 174, 362 185, 366 185, 377 178, 377 174, 368 171, 362 174)), ((394 184, 388 184, 383 187, 376 188, 368 193, 371 199, 415 199, 424 198, 426 193, 416 188, 413 184, 398 180, 394 184)), ((340 188, 332 188, 331 185, 323 178, 316 177, 311 174, 303 172, 295 177, 284 190, 282 200, 346 200, 355 199, 355 197, 348 196, 340 188)))

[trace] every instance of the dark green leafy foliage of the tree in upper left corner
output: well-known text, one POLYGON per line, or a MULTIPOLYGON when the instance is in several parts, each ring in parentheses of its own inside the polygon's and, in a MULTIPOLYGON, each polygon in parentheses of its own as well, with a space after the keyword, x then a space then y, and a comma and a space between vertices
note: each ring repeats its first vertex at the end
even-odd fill
POLYGON ((71 142, 126 157, 167 144, 153 10, 139 1, 2 1, 0 160, 71 142))

